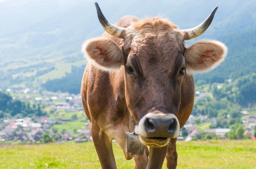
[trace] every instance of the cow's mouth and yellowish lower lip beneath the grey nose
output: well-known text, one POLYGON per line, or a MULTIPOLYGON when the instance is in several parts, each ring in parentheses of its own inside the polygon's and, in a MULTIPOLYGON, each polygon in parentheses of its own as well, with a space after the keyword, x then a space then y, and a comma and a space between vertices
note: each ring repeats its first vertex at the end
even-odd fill
POLYGON ((146 146, 163 147, 169 143, 166 137, 143 137, 140 135, 140 142, 146 146))

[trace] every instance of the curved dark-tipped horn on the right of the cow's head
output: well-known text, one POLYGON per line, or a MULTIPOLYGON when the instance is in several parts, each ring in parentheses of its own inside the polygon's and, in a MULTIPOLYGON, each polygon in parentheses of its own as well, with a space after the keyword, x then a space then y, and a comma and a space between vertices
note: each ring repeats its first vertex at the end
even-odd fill
POLYGON ((204 31, 207 30, 209 25, 211 25, 213 17, 214 17, 214 14, 217 11, 217 9, 218 9, 218 6, 216 6, 213 9, 212 13, 206 18, 206 20, 204 20, 203 23, 201 23, 200 25, 196 26, 195 28, 181 30, 183 32, 183 34, 184 34, 183 40, 193 39, 193 38, 199 37, 201 34, 203 34, 204 31))

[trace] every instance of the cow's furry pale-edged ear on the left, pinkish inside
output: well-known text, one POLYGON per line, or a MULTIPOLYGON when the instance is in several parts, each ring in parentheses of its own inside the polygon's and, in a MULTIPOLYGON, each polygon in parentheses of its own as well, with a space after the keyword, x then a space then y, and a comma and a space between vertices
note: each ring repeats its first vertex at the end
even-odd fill
POLYGON ((82 45, 82 52, 102 70, 116 71, 124 64, 122 49, 116 42, 100 37, 90 39, 82 45))

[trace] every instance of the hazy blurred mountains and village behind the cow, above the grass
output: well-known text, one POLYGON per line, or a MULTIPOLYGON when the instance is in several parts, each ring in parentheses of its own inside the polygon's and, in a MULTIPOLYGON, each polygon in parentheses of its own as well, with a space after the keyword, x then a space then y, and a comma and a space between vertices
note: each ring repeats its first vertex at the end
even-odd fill
MULTIPOLYGON (((195 77, 195 105, 179 140, 256 140, 255 0, 98 0, 115 23, 162 14, 180 29, 212 24, 198 39, 224 42, 226 60, 195 77)), ((81 104, 82 43, 103 28, 94 0, 0 0, 0 143, 90 141, 81 104)))

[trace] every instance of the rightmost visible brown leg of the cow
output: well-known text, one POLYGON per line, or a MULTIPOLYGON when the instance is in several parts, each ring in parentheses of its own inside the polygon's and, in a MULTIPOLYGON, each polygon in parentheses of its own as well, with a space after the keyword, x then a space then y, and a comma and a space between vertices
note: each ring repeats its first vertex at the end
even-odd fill
POLYGON ((166 166, 168 169, 176 169, 177 166, 177 151, 176 151, 176 141, 177 138, 172 138, 170 140, 169 146, 168 146, 168 150, 166 153, 166 166))

